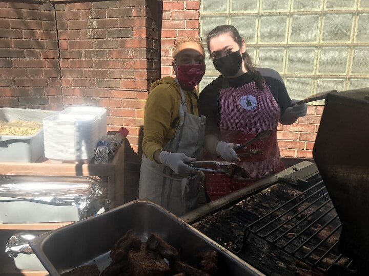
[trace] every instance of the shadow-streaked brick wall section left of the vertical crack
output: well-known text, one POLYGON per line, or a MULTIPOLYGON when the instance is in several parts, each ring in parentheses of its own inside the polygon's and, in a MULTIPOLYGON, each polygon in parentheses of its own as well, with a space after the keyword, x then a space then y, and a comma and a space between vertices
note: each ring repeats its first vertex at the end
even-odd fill
POLYGON ((63 109, 54 8, 0 2, 1 106, 63 109))

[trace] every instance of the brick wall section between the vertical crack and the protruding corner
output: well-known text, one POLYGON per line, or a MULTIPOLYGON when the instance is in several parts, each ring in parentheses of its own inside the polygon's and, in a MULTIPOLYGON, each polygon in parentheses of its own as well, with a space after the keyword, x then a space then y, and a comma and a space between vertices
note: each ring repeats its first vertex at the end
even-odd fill
POLYGON ((105 107, 108 130, 125 126, 135 151, 147 91, 160 76, 159 26, 149 2, 55 5, 64 105, 105 107))

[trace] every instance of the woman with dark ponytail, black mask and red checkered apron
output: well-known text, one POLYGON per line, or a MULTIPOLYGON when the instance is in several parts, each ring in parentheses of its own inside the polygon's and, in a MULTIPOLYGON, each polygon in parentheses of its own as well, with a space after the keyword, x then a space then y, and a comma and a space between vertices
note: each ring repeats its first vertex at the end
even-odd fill
POLYGON ((222 74, 200 93, 200 110, 207 117, 207 159, 233 161, 251 175, 231 179, 205 173, 207 195, 215 200, 284 168, 277 144, 278 122, 293 124, 306 115, 307 105, 293 105, 297 100, 290 99, 276 71, 253 66, 235 27, 214 28, 207 35, 207 44, 214 67, 222 74), (267 129, 272 131, 268 138, 235 151, 267 129))

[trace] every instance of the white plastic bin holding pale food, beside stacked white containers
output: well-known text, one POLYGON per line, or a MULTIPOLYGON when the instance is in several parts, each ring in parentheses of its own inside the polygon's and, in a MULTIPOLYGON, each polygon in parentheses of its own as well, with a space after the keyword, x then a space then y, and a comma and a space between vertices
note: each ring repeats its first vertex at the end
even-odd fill
MULTIPOLYGON (((9 123, 13 120, 31 121, 41 124, 43 119, 58 111, 24 108, 0 108, 0 122, 9 123)), ((1 162, 36 162, 44 155, 44 132, 39 129, 32 135, 1 135, 1 162)))

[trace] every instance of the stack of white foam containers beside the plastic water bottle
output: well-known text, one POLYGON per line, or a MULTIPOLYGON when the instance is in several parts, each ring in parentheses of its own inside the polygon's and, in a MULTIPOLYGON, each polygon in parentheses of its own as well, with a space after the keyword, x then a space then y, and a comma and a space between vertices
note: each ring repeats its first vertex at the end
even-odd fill
POLYGON ((44 123, 45 157, 56 160, 88 160, 95 155, 98 118, 86 114, 57 114, 44 123))

